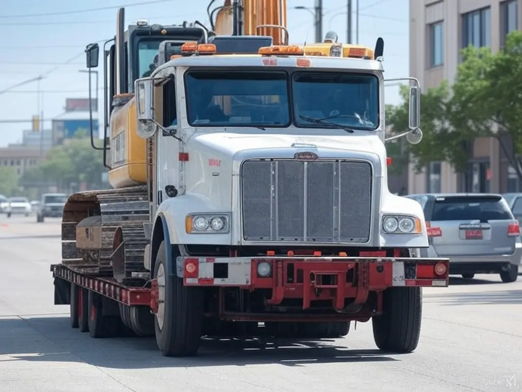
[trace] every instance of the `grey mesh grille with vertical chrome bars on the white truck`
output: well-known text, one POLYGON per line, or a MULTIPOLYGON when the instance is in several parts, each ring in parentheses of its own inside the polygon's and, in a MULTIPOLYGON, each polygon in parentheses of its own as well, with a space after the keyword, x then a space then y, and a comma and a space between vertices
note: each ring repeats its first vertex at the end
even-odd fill
POLYGON ((247 160, 241 187, 245 240, 366 243, 370 238, 368 162, 247 160))

